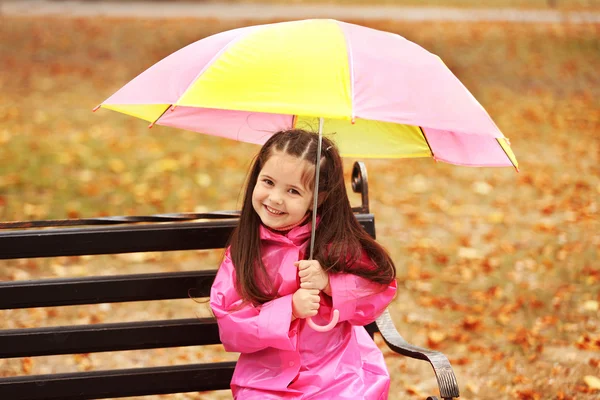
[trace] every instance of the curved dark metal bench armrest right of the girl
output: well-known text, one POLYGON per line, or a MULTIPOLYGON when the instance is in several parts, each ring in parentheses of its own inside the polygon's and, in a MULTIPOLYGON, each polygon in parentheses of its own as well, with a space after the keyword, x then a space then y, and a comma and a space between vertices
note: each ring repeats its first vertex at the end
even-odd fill
POLYGON ((419 360, 425 360, 431 364, 438 381, 440 396, 442 398, 451 399, 459 397, 456 376, 454 375, 454 371, 452 370, 448 358, 444 354, 439 351, 413 346, 404 340, 396 330, 388 310, 385 310, 385 312, 377 318, 376 323, 383 340, 396 353, 411 358, 418 358, 419 360))

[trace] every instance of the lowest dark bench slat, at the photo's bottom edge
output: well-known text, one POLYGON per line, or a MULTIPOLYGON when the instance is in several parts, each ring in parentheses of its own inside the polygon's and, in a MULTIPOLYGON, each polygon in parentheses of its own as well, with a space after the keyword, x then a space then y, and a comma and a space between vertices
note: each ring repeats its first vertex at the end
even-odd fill
POLYGON ((0 399, 81 400, 229 389, 235 362, 0 378, 0 399))

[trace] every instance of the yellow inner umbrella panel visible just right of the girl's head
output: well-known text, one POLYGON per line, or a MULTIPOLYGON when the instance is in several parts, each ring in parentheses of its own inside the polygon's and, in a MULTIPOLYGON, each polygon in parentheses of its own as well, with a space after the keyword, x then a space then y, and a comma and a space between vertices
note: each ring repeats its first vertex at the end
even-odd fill
MULTIPOLYGON (((319 131, 318 118, 298 117, 296 128, 319 131)), ((333 140, 342 156, 364 158, 431 157, 418 126, 357 118, 350 121, 325 119, 323 136, 333 140)))

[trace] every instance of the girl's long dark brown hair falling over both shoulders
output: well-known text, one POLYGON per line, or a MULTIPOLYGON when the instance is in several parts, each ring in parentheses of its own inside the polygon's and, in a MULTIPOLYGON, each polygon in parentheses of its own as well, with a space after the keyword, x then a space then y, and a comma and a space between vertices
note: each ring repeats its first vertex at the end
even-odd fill
MULTIPOLYGON (((307 186, 313 190, 318 141, 318 134, 301 129, 277 132, 263 145, 250 169, 240 221, 229 245, 236 271, 236 289, 253 304, 265 303, 276 296, 261 257, 260 217, 252 206, 258 175, 273 154, 284 153, 311 165, 305 177, 307 186)), ((327 138, 323 138, 320 168, 317 208, 320 222, 315 233, 314 258, 329 273, 347 272, 389 284, 396 277, 394 262, 356 220, 346 193, 342 159, 337 147, 327 138), (374 266, 358 262, 363 251, 374 266)), ((308 253, 309 249, 307 258, 308 253)))

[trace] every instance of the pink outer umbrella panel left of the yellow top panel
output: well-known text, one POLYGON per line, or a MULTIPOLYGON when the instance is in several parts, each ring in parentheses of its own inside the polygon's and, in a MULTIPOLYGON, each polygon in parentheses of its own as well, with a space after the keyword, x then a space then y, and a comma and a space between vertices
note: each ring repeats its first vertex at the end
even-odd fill
POLYGON ((105 100, 107 104, 173 104, 213 57, 256 27, 222 32, 165 57, 105 100))

